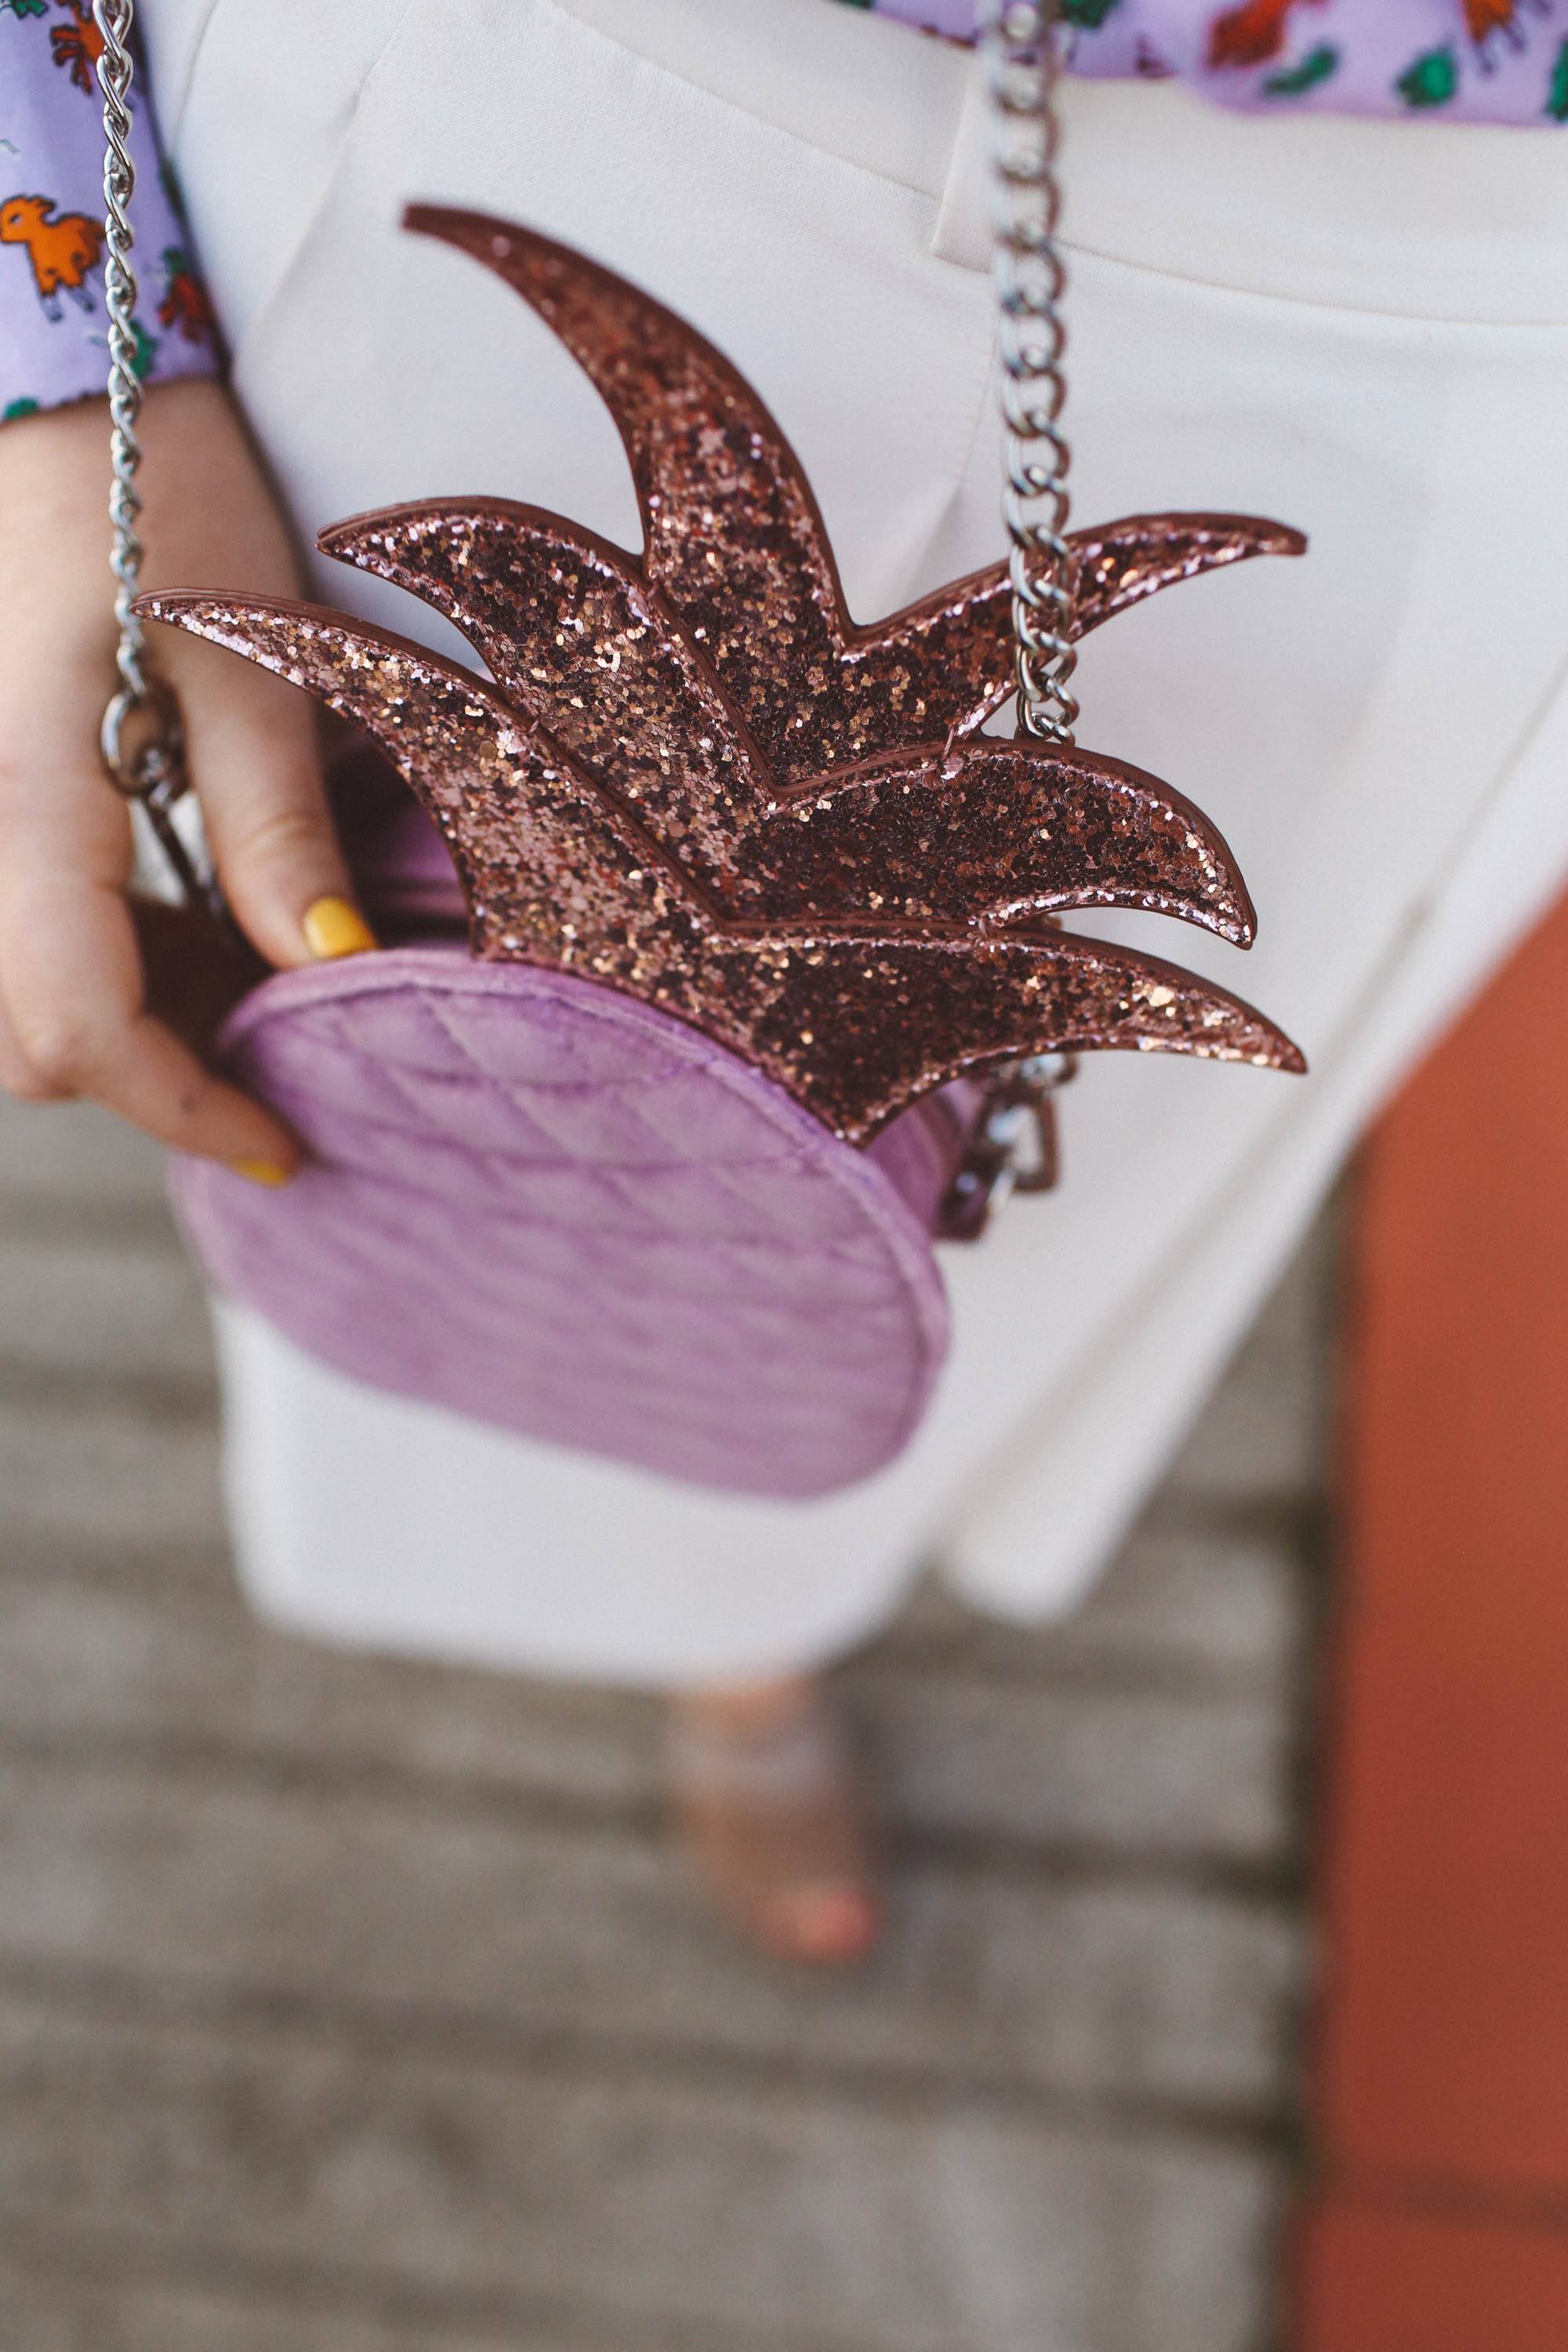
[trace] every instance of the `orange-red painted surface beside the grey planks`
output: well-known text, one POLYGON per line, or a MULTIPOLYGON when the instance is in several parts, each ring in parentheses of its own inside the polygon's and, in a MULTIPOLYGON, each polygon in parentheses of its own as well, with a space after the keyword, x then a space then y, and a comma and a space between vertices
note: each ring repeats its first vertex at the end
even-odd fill
POLYGON ((1298 2345, 1568 2352, 1568 908, 1366 1152, 1342 1529, 1298 2345))

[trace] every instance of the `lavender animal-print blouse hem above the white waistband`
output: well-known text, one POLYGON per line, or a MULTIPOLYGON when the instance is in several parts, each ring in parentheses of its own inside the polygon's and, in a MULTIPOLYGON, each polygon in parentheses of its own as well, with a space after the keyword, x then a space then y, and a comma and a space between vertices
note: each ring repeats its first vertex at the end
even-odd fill
MULTIPOLYGON (((976 0, 846 0, 973 40, 976 0)), ((1063 0, 1072 73, 1265 113, 1568 122, 1568 0, 1063 0)))

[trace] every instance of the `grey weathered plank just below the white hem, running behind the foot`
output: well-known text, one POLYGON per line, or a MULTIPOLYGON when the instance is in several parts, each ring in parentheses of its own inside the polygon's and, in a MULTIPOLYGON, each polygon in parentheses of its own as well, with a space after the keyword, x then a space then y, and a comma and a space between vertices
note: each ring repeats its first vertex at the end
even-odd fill
MULTIPOLYGON (((1265 1693, 846 1672, 896 1823, 1164 1865, 1279 1870, 1291 1726, 1265 1693)), ((336 1656, 233 1604, 66 1576, 0 1583, 0 1738, 82 1755, 212 1752, 299 1773, 430 1773, 524 1802, 649 1809, 646 1703, 423 1663, 336 1656)))

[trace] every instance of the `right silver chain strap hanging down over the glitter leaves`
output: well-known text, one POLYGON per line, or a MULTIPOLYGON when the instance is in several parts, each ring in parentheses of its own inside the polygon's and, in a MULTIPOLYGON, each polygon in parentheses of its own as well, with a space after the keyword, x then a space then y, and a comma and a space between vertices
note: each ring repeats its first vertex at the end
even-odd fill
POLYGON ((1001 517, 1011 541, 1018 722, 1041 741, 1072 743, 1077 557, 1067 546, 1070 449, 1060 428, 1067 334, 1056 235, 1056 0, 985 0, 980 56, 997 122, 1001 517))

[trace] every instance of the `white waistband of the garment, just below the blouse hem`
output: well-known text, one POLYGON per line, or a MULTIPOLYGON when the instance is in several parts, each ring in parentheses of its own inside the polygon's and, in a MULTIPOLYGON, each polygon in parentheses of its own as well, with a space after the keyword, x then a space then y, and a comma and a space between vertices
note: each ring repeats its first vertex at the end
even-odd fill
MULTIPOLYGON (((987 266, 973 59, 827 0, 555 0, 625 49, 938 200, 936 252, 987 266)), ((1079 252, 1284 301, 1568 325, 1568 139, 1232 115, 1173 82, 1067 82, 1079 252)))

